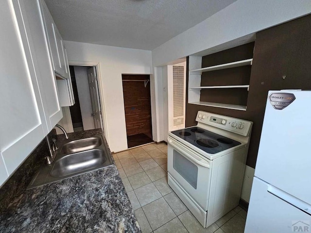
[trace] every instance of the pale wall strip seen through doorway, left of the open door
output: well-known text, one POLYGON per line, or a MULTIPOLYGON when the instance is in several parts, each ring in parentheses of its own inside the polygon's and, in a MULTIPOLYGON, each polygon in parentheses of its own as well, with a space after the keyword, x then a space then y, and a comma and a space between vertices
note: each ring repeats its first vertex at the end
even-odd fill
POLYGON ((93 116, 91 116, 92 105, 87 80, 87 69, 89 67, 74 66, 73 69, 77 83, 83 129, 92 130, 95 126, 93 116))

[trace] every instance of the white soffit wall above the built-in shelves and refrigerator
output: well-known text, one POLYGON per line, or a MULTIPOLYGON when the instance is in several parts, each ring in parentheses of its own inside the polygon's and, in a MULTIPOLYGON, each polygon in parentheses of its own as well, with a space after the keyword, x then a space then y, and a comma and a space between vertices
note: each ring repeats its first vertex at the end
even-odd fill
POLYGON ((225 50, 234 47, 227 44, 230 41, 310 13, 310 0, 237 0, 152 50, 153 65, 163 66, 203 50, 206 54, 225 50))

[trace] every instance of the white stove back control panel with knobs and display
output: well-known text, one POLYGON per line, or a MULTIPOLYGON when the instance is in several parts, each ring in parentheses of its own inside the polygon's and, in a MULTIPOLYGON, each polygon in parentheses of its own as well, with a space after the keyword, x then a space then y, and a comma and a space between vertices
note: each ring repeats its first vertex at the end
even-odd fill
POLYGON ((211 125, 244 136, 248 135, 253 125, 253 122, 248 120, 242 120, 229 116, 221 116, 203 111, 198 111, 195 120, 198 121, 199 123, 211 125))

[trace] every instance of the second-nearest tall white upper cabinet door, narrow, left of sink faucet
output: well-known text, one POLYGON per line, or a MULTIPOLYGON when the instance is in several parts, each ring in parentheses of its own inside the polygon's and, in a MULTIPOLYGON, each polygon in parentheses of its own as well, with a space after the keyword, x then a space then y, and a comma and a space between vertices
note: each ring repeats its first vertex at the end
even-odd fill
MULTIPOLYGON (((63 117, 38 0, 17 0, 39 84, 48 131, 63 117)), ((20 23, 19 23, 20 24, 20 23)), ((22 25, 19 25, 22 27, 22 25)))

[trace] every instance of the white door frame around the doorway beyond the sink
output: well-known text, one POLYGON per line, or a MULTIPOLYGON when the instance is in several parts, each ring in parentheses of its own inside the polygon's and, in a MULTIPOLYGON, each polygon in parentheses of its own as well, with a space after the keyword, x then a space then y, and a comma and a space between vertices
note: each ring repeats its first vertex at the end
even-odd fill
MULTIPOLYGON (((96 68, 96 76, 97 76, 97 84, 98 84, 98 93, 99 93, 99 99, 100 99, 100 105, 101 105, 101 125, 102 129, 104 131, 105 138, 107 140, 107 143, 109 144, 109 138, 108 138, 108 127, 106 122, 106 111, 104 108, 104 93, 103 93, 103 81, 102 81, 102 75, 101 75, 101 69, 100 69, 100 63, 99 62, 81 62, 81 61, 68 61, 69 66, 79 66, 79 67, 95 67, 96 68), (104 117, 103 117, 104 116, 104 117)), ((72 122, 70 122, 72 125, 72 122)))

